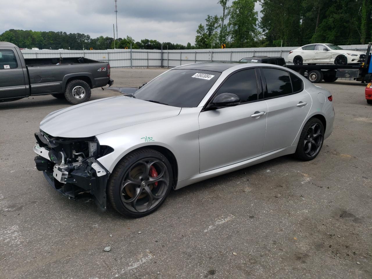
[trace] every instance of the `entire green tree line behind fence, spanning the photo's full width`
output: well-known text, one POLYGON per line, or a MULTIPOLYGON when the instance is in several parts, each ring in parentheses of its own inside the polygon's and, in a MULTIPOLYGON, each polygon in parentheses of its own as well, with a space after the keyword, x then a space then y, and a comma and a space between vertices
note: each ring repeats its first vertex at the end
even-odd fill
POLYGON ((372 41, 372 0, 218 0, 221 15, 208 15, 196 30, 195 45, 132 37, 91 38, 83 33, 10 29, 0 41, 21 48, 40 49, 204 49, 240 47, 295 47, 315 42, 337 45, 372 41), (254 10, 262 7, 259 20, 254 10))

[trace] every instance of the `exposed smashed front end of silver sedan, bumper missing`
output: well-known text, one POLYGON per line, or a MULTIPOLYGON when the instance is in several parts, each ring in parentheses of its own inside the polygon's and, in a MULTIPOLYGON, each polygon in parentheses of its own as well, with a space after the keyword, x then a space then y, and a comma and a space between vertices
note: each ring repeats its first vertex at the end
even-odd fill
POLYGON ((40 131, 35 138, 36 168, 43 171, 49 184, 72 199, 91 194, 98 208, 106 211, 110 173, 96 159, 112 152, 112 148, 101 146, 96 137, 61 138, 40 131))

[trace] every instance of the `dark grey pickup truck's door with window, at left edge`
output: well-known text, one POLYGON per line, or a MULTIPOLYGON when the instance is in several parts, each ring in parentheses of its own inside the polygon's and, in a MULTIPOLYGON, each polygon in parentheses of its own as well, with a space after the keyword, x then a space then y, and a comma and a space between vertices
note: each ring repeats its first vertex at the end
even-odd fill
POLYGON ((15 48, 0 49, 0 99, 28 96, 25 71, 15 48))

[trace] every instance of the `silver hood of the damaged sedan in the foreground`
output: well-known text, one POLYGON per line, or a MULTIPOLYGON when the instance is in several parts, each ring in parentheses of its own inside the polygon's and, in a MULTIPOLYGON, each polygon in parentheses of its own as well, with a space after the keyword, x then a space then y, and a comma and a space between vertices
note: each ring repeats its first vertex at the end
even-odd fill
POLYGON ((176 116, 181 108, 125 96, 99 99, 49 113, 40 129, 53 137, 85 138, 176 116))

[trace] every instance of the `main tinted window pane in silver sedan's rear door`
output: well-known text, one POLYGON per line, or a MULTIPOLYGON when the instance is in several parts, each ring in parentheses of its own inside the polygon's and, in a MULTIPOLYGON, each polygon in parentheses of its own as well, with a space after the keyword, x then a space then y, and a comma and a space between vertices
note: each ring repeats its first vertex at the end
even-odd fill
POLYGON ((261 68, 261 71, 266 79, 267 92, 265 98, 292 94, 292 85, 288 72, 273 68, 261 68))

